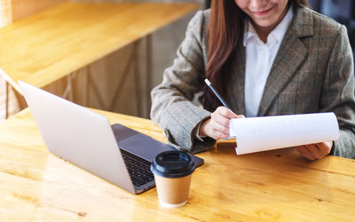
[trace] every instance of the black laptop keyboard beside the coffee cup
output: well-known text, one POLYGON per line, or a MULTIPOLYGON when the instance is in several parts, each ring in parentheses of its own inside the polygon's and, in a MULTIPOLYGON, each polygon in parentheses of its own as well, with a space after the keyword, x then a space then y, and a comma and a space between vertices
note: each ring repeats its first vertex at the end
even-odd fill
POLYGON ((120 150, 134 186, 142 186, 154 180, 154 174, 150 170, 151 163, 123 149, 120 150))

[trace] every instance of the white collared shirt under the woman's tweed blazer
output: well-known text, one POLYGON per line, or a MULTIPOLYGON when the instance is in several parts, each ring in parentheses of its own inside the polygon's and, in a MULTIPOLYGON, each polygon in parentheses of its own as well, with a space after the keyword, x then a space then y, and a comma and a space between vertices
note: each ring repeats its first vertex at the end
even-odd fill
POLYGON ((279 51, 283 36, 285 36, 292 17, 291 6, 283 20, 267 36, 266 44, 257 36, 255 28, 248 21, 243 39, 243 45, 246 47, 244 95, 247 117, 257 115, 273 60, 279 51))

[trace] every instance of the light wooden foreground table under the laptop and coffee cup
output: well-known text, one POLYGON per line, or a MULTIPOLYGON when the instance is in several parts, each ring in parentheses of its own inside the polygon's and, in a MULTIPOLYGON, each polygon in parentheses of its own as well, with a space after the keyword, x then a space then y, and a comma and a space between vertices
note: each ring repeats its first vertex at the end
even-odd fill
MULTIPOLYGON (((98 111, 111 123, 165 141, 150 120, 98 111)), ((25 109, 0 124, 0 218, 90 221, 353 221, 355 161, 309 162, 293 149, 235 155, 219 147, 198 156, 184 207, 159 206, 156 189, 133 195, 45 148, 25 109)))

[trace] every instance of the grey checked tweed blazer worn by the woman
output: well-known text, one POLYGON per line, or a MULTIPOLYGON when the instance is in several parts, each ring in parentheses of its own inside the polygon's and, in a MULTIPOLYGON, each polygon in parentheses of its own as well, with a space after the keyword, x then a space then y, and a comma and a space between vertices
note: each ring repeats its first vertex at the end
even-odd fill
MULTIPOLYGON (((174 64, 152 91, 151 117, 170 144, 198 153, 214 139, 195 139, 196 126, 209 111, 193 105, 203 91, 208 62, 206 39, 209 10, 197 12, 177 50, 174 64)), ((245 115, 245 48, 239 45, 228 82, 227 104, 245 115)), ((355 158, 355 99, 353 60, 346 28, 308 8, 298 8, 280 45, 268 76, 258 116, 334 112, 340 139, 332 155, 355 158)))

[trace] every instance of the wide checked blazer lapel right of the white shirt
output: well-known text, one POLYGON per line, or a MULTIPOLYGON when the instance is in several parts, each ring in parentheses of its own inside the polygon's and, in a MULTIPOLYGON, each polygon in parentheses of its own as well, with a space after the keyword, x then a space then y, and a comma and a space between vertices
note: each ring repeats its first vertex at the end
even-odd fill
POLYGON ((267 114, 272 103, 277 99, 302 65, 308 52, 301 41, 301 37, 312 36, 312 15, 300 8, 294 14, 294 19, 280 44, 279 52, 272 64, 272 68, 264 87, 264 94, 260 102, 258 116, 267 114))

